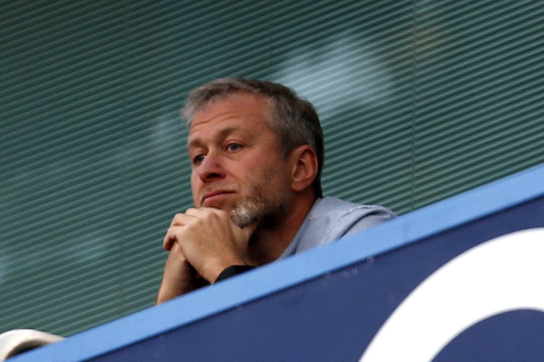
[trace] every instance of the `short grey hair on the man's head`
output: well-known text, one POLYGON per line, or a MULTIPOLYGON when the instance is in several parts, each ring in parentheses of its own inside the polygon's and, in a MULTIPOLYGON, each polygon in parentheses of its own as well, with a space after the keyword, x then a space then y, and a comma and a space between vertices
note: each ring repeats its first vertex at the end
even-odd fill
POLYGON ((302 99, 290 88, 269 81, 221 78, 196 88, 189 94, 182 116, 188 127, 195 113, 212 100, 230 94, 248 92, 261 94, 269 101, 272 110, 270 126, 280 136, 280 150, 285 157, 295 148, 308 144, 316 151, 318 169, 312 187, 318 197, 323 197, 321 172, 323 169, 323 130, 319 117, 310 101, 302 99))

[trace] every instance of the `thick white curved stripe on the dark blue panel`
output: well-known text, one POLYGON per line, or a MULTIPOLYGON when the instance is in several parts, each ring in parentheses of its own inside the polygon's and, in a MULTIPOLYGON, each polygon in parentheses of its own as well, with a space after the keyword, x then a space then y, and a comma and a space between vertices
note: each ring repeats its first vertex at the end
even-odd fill
POLYGON ((489 240, 426 278, 395 309, 360 362, 431 361, 459 333, 515 309, 544 312, 544 228, 489 240))

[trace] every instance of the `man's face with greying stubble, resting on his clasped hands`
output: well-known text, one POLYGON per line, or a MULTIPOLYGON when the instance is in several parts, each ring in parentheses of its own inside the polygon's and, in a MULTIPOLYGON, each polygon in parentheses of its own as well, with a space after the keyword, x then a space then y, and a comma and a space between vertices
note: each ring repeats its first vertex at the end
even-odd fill
POLYGON ((266 99, 251 93, 213 100, 195 113, 188 152, 196 207, 224 209, 240 227, 285 211, 292 167, 269 116, 266 99))

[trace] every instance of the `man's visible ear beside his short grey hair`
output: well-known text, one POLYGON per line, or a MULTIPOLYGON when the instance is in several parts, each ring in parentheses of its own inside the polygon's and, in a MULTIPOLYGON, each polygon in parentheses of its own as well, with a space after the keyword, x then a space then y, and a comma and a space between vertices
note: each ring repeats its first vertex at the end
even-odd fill
POLYGON ((310 145, 304 144, 295 148, 291 155, 292 160, 292 181, 293 191, 300 192, 312 185, 317 175, 317 155, 310 145))

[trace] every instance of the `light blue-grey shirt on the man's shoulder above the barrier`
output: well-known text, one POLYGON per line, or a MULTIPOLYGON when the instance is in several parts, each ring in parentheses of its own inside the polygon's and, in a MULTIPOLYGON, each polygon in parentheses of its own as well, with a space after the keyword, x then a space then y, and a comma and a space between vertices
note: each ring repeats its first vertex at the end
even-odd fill
POLYGON ((304 223, 280 258, 328 244, 394 217, 395 213, 384 206, 354 204, 325 196, 313 204, 304 223))

